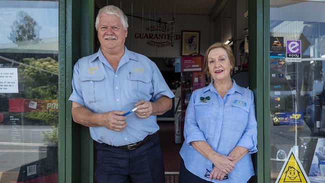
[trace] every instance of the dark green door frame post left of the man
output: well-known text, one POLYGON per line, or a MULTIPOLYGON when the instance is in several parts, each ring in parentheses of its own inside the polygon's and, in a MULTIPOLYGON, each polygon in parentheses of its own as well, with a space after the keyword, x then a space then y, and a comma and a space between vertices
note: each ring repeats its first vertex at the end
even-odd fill
POLYGON ((94 1, 59 0, 59 147, 58 182, 93 182, 93 141, 88 127, 72 121, 72 69, 93 53, 94 1))

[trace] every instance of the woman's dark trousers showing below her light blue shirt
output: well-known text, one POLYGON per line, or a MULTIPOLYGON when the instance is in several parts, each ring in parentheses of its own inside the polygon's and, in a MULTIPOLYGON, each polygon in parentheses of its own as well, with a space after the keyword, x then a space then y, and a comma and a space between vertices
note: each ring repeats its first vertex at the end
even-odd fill
POLYGON ((211 181, 206 181, 190 171, 185 167, 184 160, 180 158, 180 167, 179 167, 179 178, 178 183, 211 183, 211 181))

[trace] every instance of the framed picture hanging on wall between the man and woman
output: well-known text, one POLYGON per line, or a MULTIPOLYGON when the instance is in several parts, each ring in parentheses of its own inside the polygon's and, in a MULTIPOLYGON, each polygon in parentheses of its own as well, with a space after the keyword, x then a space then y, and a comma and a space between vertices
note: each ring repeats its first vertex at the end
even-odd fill
POLYGON ((199 53, 199 31, 181 31, 181 55, 199 53))

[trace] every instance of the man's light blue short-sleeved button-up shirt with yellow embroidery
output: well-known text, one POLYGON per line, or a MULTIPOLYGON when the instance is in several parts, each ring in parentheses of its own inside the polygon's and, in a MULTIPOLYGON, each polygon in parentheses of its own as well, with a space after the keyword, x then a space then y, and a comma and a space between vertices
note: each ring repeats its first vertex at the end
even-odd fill
MULTIPOLYGON (((101 50, 80 58, 74 65, 70 101, 84 105, 93 112, 129 111, 139 100, 155 101, 161 96, 174 97, 158 67, 142 54, 127 50, 116 72, 101 50)), ((127 126, 113 131, 103 126, 89 127, 92 139, 114 146, 142 140, 159 129, 156 115, 138 118, 135 112, 127 115, 127 126)))

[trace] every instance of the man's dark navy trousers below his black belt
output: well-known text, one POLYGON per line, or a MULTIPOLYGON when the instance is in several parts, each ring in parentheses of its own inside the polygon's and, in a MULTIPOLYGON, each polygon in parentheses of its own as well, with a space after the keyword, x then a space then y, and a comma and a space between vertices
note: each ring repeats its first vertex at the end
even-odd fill
POLYGON ((96 142, 98 183, 164 183, 158 134, 128 150, 96 142))

